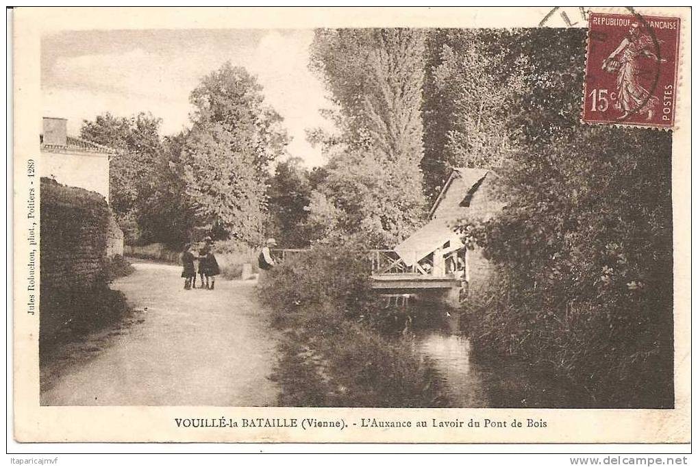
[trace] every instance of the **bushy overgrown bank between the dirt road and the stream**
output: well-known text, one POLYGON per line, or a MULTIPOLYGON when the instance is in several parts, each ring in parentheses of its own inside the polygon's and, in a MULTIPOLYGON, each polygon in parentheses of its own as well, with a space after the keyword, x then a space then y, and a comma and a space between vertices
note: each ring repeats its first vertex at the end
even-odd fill
MULTIPOLYGON (((276 379, 284 406, 448 404, 430 362, 378 332, 364 240, 315 246, 272 269, 262 301, 285 330, 276 379), (338 265, 341 264, 341 270, 338 265)), ((389 319, 394 323, 393 317, 389 319)))

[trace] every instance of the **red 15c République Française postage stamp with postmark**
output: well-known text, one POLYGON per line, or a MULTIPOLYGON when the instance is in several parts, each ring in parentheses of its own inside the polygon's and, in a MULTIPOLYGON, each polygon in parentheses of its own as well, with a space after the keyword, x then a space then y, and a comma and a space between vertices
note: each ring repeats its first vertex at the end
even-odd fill
POLYGON ((680 25, 674 17, 591 13, 582 120, 674 126, 680 25))

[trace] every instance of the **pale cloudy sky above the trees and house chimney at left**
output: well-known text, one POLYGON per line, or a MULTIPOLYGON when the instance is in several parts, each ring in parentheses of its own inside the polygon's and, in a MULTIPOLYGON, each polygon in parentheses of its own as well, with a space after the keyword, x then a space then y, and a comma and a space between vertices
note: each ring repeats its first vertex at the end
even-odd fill
POLYGON ((103 112, 130 117, 151 112, 162 135, 189 126, 189 93, 225 61, 257 75, 267 104, 284 118, 290 156, 322 165, 306 128, 327 127, 327 93, 309 68, 311 29, 158 29, 61 31, 41 41, 41 93, 45 117, 68 119, 78 135, 84 119, 103 112))

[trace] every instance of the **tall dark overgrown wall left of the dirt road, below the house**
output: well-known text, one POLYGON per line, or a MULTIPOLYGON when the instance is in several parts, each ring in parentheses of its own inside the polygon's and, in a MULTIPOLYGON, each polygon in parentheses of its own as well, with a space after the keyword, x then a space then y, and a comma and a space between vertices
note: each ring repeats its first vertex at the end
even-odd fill
POLYGON ((105 198, 47 178, 40 195, 39 357, 45 361, 63 336, 100 329, 128 307, 107 285, 107 239, 120 231, 110 229, 105 198))

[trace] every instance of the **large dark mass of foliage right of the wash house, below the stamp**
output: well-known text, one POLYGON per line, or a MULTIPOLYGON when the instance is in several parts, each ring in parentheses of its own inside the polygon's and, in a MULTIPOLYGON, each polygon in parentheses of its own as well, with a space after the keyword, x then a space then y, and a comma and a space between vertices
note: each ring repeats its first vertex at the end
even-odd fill
MULTIPOLYGON (((579 123, 584 31, 513 34, 502 53, 525 54, 521 91, 498 104, 508 117, 481 121, 513 143, 496 164, 505 208, 463 225, 500 272, 470 303, 477 344, 567 378, 598 406, 671 406, 671 135, 579 123)), ((448 43, 443 57, 489 40, 448 43)), ((453 142, 478 138, 454 128, 457 156, 453 142)))

